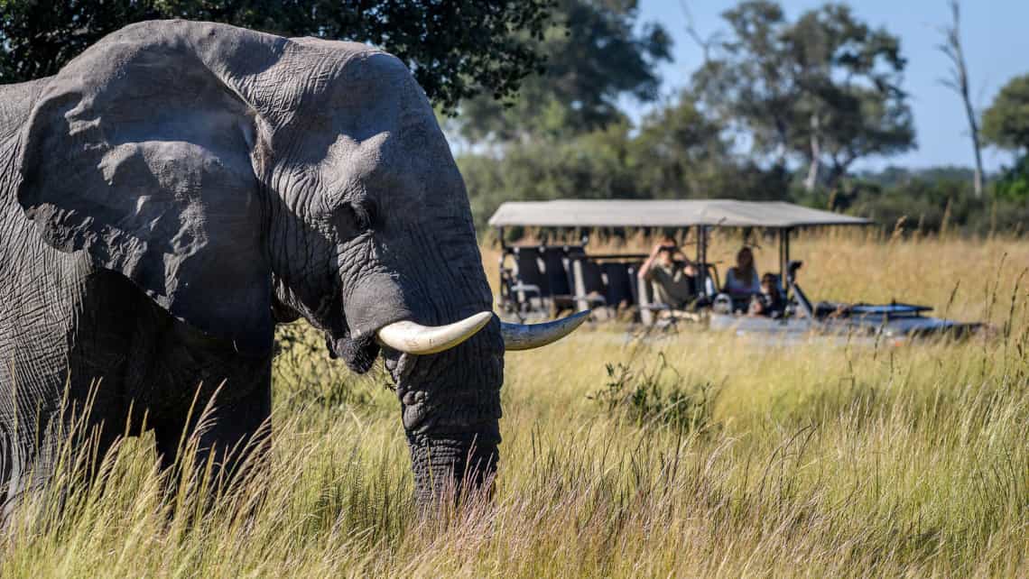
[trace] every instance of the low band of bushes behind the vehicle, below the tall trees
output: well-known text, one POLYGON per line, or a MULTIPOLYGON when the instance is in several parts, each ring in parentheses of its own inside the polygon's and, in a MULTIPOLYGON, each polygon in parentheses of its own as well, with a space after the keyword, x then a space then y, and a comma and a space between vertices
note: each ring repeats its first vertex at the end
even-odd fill
POLYGON ((505 201, 569 197, 782 200, 903 231, 1021 234, 1029 225, 1029 197, 997 191, 1018 168, 988 176, 986 194, 975 197, 966 168, 890 167, 808 190, 782 168, 697 157, 653 142, 644 129, 635 138, 609 130, 564 144, 509 147, 503 156, 463 154, 458 164, 480 229, 505 201))

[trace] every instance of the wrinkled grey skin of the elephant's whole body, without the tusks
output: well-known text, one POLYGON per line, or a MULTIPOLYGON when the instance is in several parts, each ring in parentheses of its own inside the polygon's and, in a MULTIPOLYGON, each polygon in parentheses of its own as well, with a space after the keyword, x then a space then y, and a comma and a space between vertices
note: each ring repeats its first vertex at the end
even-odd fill
MULTIPOLYGON (((81 407, 102 378, 103 445, 145 409, 171 460, 198 383, 203 407, 224 381, 202 439, 219 453, 269 417, 277 322, 303 316, 366 371, 383 325, 491 309, 463 181, 405 67, 206 23, 133 25, 54 77, 0 86, 0 272, 11 497, 52 468, 66 384, 81 407)), ((382 354, 417 497, 451 473, 486 480, 496 320, 442 354, 382 354)))

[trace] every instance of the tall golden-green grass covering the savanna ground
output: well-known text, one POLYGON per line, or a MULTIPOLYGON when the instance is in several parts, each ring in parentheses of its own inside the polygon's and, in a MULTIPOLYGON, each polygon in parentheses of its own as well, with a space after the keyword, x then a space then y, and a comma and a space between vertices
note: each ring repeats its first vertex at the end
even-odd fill
MULTIPOLYGON (((728 260, 738 243, 715 245, 728 260)), ((928 303, 994 337, 775 348, 584 328, 506 357, 492 501, 419 517, 388 381, 295 326, 270 468, 223 498, 197 479, 169 493, 130 440, 63 510, 22 508, 0 574, 1029 575, 1029 242, 849 232, 793 254, 812 296, 928 303)))

